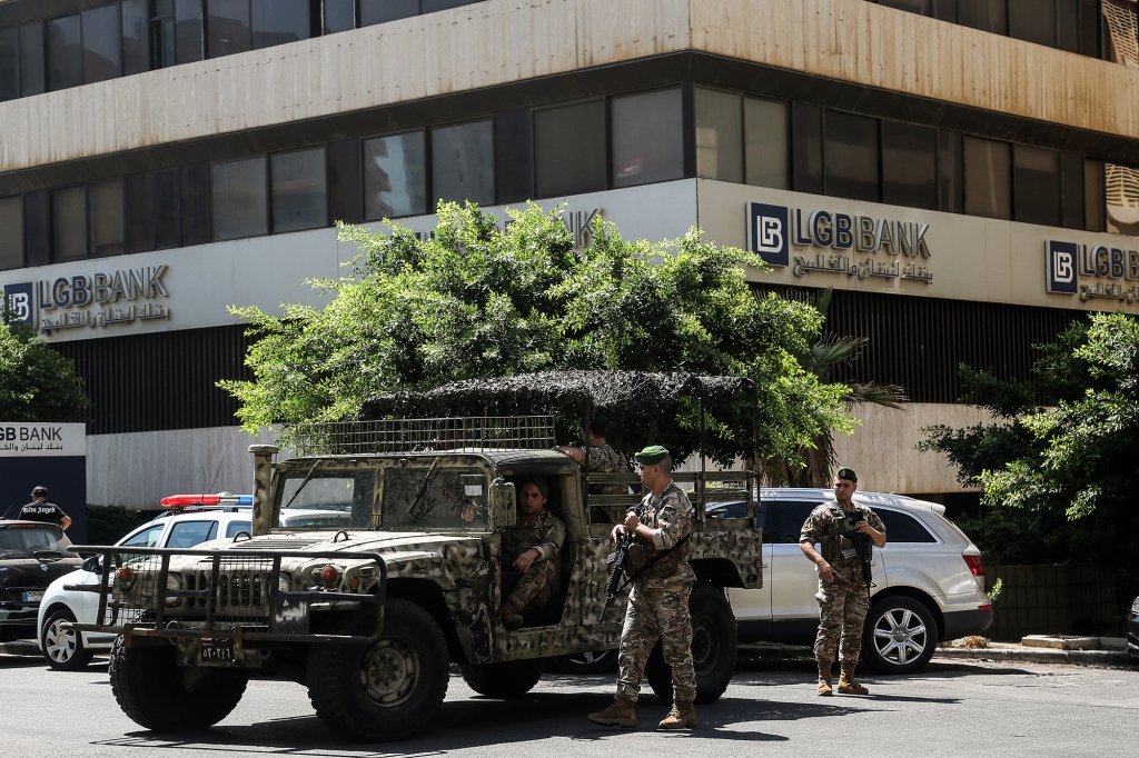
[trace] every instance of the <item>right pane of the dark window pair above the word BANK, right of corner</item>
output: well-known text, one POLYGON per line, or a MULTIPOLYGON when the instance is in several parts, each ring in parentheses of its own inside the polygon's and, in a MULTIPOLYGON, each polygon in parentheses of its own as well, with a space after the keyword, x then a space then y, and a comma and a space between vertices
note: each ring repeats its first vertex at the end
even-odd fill
POLYGON ((882 122, 882 201, 937 209, 937 130, 882 122))

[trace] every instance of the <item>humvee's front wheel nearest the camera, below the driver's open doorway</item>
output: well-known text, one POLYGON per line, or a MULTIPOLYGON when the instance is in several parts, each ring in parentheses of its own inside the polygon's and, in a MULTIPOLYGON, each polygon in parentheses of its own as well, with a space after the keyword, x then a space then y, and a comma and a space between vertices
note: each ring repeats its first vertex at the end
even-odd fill
MULTIPOLYGON (((344 624, 357 628, 359 618, 344 624)), ((402 740, 423 728, 442 707, 449 677, 443 632, 427 611, 399 598, 387 601, 384 635, 375 644, 309 650, 309 699, 317 716, 361 742, 402 740)))

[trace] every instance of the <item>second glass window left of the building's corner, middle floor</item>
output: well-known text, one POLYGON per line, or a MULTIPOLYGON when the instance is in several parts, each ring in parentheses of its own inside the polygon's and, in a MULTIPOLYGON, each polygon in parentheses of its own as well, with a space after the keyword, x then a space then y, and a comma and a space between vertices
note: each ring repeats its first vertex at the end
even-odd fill
POLYGON ((538 197, 605 189, 605 100, 534 112, 538 197))

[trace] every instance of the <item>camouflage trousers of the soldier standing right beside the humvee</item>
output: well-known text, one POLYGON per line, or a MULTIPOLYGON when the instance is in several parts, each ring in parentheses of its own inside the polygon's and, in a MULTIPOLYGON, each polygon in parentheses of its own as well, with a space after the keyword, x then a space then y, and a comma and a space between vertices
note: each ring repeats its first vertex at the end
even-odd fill
POLYGON ((693 619, 688 615, 691 587, 679 590, 641 590, 629 595, 625 626, 621 631, 617 664, 617 698, 637 700, 645 664, 657 638, 664 662, 672 667, 675 700, 696 697, 696 670, 693 668, 693 619))

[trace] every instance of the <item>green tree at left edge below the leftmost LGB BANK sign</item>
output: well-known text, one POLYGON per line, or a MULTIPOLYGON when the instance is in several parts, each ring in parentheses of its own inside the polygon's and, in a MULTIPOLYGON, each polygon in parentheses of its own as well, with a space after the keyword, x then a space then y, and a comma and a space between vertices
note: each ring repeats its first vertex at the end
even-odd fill
POLYGON ((71 361, 27 324, 0 323, 0 420, 82 421, 87 405, 71 361))

